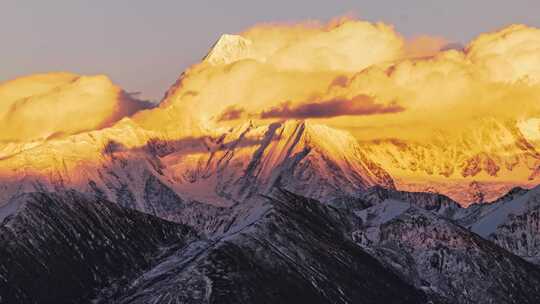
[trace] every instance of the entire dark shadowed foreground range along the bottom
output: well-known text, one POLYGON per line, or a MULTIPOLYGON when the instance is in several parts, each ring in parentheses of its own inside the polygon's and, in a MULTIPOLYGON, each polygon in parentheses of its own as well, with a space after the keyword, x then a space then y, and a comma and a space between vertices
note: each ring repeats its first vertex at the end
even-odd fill
POLYGON ((196 229, 75 191, 9 207, 6 303, 540 300, 540 269, 459 226, 450 217, 467 209, 440 195, 374 188, 323 204, 275 189, 221 210, 186 208, 179 218, 204 222, 196 229))

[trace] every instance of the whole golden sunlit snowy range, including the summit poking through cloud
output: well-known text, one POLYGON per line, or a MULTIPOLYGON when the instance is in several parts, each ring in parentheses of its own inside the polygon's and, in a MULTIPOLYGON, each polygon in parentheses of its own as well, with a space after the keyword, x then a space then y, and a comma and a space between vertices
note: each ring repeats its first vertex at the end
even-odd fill
MULTIPOLYGON (((252 48, 247 38, 224 35, 196 69, 249 59, 256 54, 252 48)), ((295 120, 239 121, 209 131, 206 122, 184 115, 194 109, 183 108, 181 98, 197 96, 184 92, 188 74, 159 108, 114 126, 1 143, 0 206, 36 189, 77 189, 169 218, 179 199, 230 206, 280 186, 331 201, 374 185, 441 193, 468 205, 539 181, 538 119, 482 118, 457 135, 441 131, 422 141, 359 141, 346 131, 295 120), (144 190, 158 192, 161 185, 172 203, 156 205, 144 190)))

